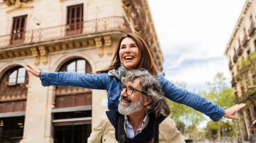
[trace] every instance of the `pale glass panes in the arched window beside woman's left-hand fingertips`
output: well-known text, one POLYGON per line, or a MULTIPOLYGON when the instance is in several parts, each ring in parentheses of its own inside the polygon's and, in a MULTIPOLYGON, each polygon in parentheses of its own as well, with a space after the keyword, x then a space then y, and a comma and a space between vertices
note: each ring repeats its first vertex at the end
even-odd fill
POLYGON ((23 84, 25 82, 26 70, 24 67, 20 67, 11 72, 9 76, 9 86, 14 86, 16 84, 23 84))

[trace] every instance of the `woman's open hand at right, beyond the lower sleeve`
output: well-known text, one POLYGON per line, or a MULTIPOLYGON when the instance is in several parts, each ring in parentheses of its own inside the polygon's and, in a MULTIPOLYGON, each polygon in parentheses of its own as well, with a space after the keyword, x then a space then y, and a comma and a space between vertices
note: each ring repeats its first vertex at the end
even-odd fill
POLYGON ((233 120, 239 120, 240 118, 235 116, 235 113, 238 113, 238 111, 242 110, 242 108, 245 108, 245 103, 233 105, 232 107, 225 110, 224 117, 233 120))

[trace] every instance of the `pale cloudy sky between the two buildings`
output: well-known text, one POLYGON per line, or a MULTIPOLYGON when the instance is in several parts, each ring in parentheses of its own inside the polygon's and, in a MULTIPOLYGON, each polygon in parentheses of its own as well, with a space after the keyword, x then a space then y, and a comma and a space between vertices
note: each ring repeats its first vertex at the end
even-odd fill
POLYGON ((245 0, 148 0, 170 81, 208 91, 218 72, 229 80, 224 55, 245 0))

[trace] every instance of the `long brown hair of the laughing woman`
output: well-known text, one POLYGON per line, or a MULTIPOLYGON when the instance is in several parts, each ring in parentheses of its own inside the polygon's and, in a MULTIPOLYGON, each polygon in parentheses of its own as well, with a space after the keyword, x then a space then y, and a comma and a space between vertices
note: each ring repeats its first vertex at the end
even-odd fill
POLYGON ((139 37, 139 35, 136 35, 134 33, 127 33, 122 35, 119 40, 117 41, 117 47, 114 52, 114 57, 112 58, 110 62, 110 66, 107 67, 106 69, 102 69, 100 71, 97 71, 97 73, 102 73, 102 72, 107 72, 110 69, 117 69, 118 67, 121 66, 121 60, 119 57, 119 49, 120 49, 120 44, 124 38, 132 38, 134 42, 137 44, 137 47, 139 48, 139 54, 141 55, 141 60, 137 66, 137 69, 146 69, 148 70, 151 74, 154 76, 157 75, 157 68, 156 64, 154 63, 154 60, 151 56, 151 53, 149 52, 149 48, 147 47, 146 43, 144 40, 139 37))

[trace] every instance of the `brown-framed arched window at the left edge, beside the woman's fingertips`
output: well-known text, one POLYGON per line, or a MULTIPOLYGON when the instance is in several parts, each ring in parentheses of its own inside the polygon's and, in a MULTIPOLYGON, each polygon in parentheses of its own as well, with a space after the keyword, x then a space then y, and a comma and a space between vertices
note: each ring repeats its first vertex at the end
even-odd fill
POLYGON ((24 67, 13 67, 0 80, 0 113, 26 110, 28 74, 24 67))

